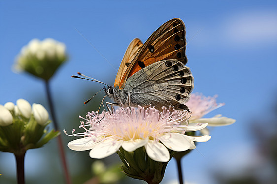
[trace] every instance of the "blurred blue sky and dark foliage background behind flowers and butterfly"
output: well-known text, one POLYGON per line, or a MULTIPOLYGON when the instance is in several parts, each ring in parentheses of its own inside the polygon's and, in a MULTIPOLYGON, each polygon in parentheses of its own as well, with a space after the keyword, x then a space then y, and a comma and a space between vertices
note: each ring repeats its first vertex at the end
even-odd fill
MULTIPOLYGON (((211 140, 199 143, 182 159, 183 174, 194 184, 274 184, 277 182, 277 1, 4 1, 0 0, 0 104, 24 98, 48 109, 40 79, 12 71, 15 57, 33 38, 65 43, 68 61, 51 79, 51 91, 61 129, 78 131, 80 119, 96 111, 104 92, 83 102, 103 85, 72 79, 82 72, 113 85, 124 52, 132 39, 143 42, 164 22, 178 17, 186 25, 188 64, 194 93, 218 95, 226 105, 206 117, 222 114, 236 123, 211 130, 211 140)), ((52 127, 51 127, 52 128, 52 127)), ((75 152, 62 134, 74 184, 88 181, 93 159, 75 152)), ((63 183, 56 140, 28 150, 26 183, 63 183)), ((115 154, 104 160, 119 161, 115 154)), ((16 183, 15 159, 0 152, 0 183, 16 183)), ((123 176, 123 174, 122 174, 123 176)), ((175 160, 163 184, 177 179, 175 160)), ((141 184, 135 179, 119 183, 141 184)))

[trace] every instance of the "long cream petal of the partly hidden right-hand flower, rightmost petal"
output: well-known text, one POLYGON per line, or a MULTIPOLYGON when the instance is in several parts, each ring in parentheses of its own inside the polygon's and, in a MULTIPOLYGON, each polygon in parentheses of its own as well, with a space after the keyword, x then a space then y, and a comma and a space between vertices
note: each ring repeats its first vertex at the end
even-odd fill
POLYGON ((208 123, 208 126, 227 126, 235 123, 236 120, 232 118, 223 117, 213 117, 213 118, 201 118, 197 120, 197 123, 208 123))

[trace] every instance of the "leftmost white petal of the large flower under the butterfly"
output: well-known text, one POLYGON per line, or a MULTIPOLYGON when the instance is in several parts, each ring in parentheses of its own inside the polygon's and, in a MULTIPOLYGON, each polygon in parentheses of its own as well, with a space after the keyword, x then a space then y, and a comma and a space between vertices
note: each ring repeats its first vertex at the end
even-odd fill
POLYGON ((91 138, 84 137, 80 139, 73 140, 68 143, 68 147, 71 150, 75 151, 83 151, 83 150, 90 150, 97 141, 93 141, 91 138))

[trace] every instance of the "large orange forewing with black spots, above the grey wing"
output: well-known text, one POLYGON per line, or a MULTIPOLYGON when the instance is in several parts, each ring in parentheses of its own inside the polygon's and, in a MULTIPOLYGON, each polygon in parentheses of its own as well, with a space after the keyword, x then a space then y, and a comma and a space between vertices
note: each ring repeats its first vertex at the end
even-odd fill
POLYGON ((126 80, 134 73, 157 61, 177 59, 186 64, 185 50, 185 24, 179 18, 167 21, 143 44, 121 77, 119 88, 123 89, 126 80))

